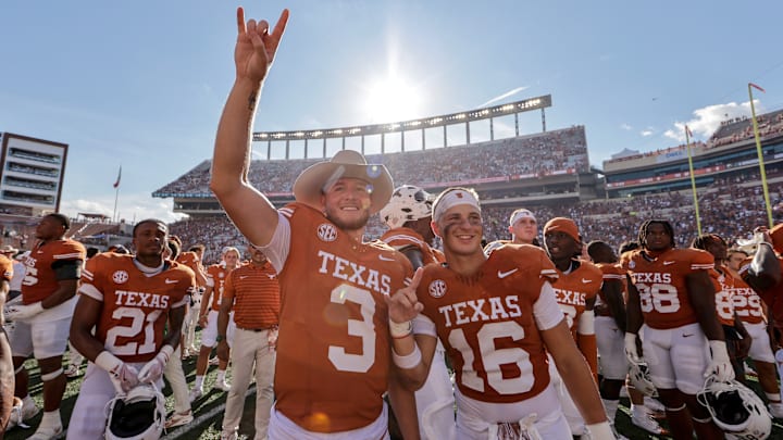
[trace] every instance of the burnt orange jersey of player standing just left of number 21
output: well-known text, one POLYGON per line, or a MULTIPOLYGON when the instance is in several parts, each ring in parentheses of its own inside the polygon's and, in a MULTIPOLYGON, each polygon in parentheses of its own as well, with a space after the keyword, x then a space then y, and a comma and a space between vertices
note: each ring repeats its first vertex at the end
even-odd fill
POLYGON ((25 277, 22 281, 22 302, 32 304, 42 301, 54 292, 60 284, 54 267, 60 262, 78 261, 84 264, 87 251, 74 240, 39 242, 25 256, 25 277))

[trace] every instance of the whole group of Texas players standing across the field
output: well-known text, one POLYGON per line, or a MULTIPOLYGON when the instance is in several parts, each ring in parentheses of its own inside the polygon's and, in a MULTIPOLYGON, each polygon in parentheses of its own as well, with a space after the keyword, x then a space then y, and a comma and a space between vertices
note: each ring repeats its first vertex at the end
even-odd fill
MULTIPOLYGON (((33 356, 44 416, 30 438, 158 438, 194 420, 216 348, 226 439, 253 379, 257 439, 614 439, 626 379, 634 424, 651 433, 664 432, 662 412, 675 439, 770 436, 783 416, 773 351, 783 226, 756 229, 754 254, 730 255, 719 235, 678 247, 670 222, 647 219, 618 257, 570 217, 546 216, 539 240, 545 216, 519 209, 511 239, 484 246, 475 191, 395 188, 384 165, 350 150, 302 171, 296 201, 277 210, 247 180, 248 127, 287 20, 286 10, 270 28, 238 10, 236 81, 215 139, 210 188, 249 261, 224 248, 203 267, 206 249, 181 252, 158 219, 134 226, 132 252, 88 259, 65 238, 67 217, 42 217, 20 294, 0 314, 13 322, 0 336, 3 431, 39 412, 24 367, 33 356), (386 231, 368 241, 375 214, 386 231), (69 343, 89 363, 63 423, 69 343), (198 353, 189 390, 188 353, 198 353), (743 385, 746 357, 767 402, 743 385)), ((1 304, 18 276, 4 255, 0 275, 1 304)))

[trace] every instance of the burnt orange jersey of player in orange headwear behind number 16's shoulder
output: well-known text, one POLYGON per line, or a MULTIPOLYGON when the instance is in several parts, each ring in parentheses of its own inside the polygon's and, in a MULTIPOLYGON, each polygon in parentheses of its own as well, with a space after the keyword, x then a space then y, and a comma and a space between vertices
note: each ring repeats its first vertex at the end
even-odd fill
POLYGON ((596 298, 604 284, 604 274, 595 264, 587 261, 579 261, 577 264, 579 266, 568 274, 556 268, 558 279, 552 284, 557 302, 574 336, 574 324, 585 311, 585 304, 596 298))

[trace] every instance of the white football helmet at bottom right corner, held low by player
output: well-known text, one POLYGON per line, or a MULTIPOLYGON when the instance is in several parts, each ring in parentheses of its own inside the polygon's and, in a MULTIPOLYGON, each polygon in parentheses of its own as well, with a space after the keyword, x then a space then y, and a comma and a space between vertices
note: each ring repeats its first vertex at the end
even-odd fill
POLYGON ((753 390, 736 380, 719 381, 713 375, 696 394, 712 420, 737 439, 766 439, 772 432, 772 416, 753 390))

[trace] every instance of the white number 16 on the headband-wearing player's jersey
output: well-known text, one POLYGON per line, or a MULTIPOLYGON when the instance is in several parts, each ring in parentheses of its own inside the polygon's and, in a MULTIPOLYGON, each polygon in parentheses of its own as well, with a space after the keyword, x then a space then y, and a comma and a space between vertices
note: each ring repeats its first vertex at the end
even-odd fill
MULTIPOLYGON (((476 334, 478 340, 478 356, 484 370, 487 375, 487 384, 499 394, 519 394, 527 392, 533 388, 535 377, 533 375, 533 364, 530 362, 530 354, 519 347, 508 349, 497 349, 495 341, 497 339, 511 338, 513 341, 524 339, 524 328, 519 324, 508 320, 504 323, 484 324, 476 334), (500 370, 501 365, 517 365, 519 376, 504 378, 500 370)), ((453 329, 449 332, 449 343, 452 348, 462 353, 464 365, 460 375, 461 382, 465 387, 484 392, 484 380, 473 367, 476 353, 473 348, 468 344, 464 332, 461 328, 453 329)))

